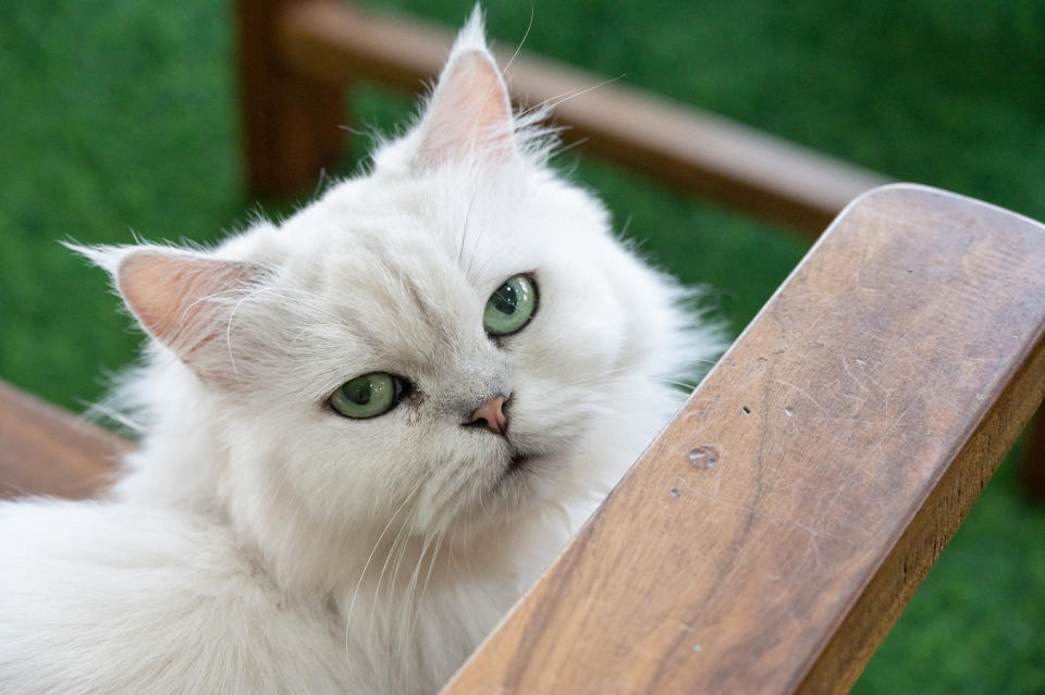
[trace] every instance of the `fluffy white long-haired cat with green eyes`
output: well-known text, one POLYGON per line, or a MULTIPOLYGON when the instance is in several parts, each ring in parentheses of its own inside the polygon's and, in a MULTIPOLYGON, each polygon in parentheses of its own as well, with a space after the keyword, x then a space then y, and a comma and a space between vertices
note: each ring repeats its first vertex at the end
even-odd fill
POLYGON ((89 251, 150 336, 109 498, 0 505, 0 692, 432 693, 720 348, 513 116, 477 9, 372 171, 89 251))

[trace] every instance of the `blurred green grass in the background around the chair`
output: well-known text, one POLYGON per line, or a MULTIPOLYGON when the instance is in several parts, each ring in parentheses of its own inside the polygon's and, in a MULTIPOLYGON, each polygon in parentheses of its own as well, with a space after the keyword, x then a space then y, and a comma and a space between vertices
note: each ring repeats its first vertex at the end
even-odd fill
MULTIPOLYGON (((455 25, 470 1, 381 4, 455 25)), ((1045 3, 532 9, 528 50, 1045 220, 1045 3)), ((487 10, 491 35, 515 46, 531 5, 487 10)), ((231 23, 208 0, 0 5, 0 378, 78 410, 134 359, 139 334, 102 273, 58 240, 207 241, 257 210, 242 190, 231 23)), ((389 127, 409 106, 364 87, 352 110, 355 127, 389 127)), ((352 159, 365 145, 354 138, 352 159)), ((574 152, 561 164, 657 262, 715 287, 737 331, 807 246, 574 152)), ((1019 496, 1011 463, 855 692, 1045 693, 1045 511, 1019 496)))

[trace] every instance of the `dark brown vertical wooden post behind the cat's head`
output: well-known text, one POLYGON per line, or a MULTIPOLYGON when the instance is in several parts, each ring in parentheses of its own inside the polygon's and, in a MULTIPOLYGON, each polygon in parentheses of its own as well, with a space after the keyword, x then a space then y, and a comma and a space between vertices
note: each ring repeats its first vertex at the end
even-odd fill
POLYGON ((276 49, 282 13, 302 0, 236 0, 246 184, 290 196, 341 156, 344 87, 294 71, 276 49))

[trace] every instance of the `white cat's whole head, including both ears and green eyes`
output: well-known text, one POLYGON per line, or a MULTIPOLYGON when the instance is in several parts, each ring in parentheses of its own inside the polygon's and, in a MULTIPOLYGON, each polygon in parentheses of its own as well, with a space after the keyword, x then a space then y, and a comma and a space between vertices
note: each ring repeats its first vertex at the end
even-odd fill
POLYGON ((156 369, 190 383, 168 410, 222 433, 231 505, 437 533, 639 452, 677 406, 681 294, 544 154, 477 13, 367 175, 212 251, 109 251, 156 369))

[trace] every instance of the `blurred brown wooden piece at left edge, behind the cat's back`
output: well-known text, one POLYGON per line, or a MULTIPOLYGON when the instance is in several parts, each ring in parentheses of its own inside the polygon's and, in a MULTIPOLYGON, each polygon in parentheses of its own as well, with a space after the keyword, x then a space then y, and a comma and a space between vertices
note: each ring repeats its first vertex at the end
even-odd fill
POLYGON ((0 498, 90 497, 131 445, 0 382, 0 498))

